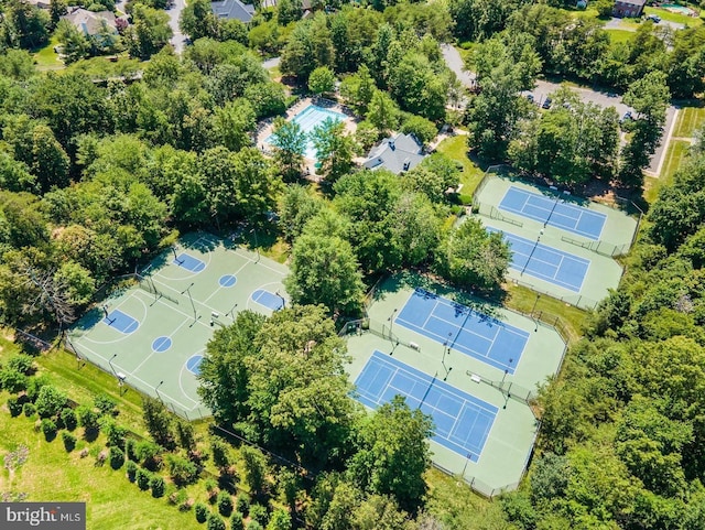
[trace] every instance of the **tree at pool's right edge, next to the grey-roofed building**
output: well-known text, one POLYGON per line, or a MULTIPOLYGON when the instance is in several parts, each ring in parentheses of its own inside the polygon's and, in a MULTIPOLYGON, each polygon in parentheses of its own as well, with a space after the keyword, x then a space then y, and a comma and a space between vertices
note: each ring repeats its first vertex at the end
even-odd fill
POLYGON ((355 140, 345 132, 345 122, 327 118, 311 132, 316 159, 326 180, 337 181, 352 169, 355 140))

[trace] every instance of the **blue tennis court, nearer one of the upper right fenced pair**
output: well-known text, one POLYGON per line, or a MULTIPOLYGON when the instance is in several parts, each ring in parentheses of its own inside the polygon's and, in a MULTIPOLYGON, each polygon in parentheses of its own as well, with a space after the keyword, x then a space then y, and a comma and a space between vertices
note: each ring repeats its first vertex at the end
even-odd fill
POLYGON ((576 293, 581 292, 585 274, 590 267, 589 260, 553 247, 536 245, 536 241, 513 234, 505 232, 503 236, 511 245, 512 269, 576 293))

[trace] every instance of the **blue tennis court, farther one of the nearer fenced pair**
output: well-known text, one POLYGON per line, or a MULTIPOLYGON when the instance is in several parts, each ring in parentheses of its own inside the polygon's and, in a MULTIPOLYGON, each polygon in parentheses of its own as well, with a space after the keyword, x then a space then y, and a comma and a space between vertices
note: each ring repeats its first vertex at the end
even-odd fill
POLYGON ((509 374, 514 372, 529 340, 523 329, 421 289, 412 293, 394 323, 509 374))

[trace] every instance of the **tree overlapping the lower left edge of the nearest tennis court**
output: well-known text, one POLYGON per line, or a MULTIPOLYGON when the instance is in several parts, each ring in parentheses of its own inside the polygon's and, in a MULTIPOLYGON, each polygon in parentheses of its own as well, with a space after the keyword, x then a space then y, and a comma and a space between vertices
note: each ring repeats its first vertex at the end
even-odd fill
POLYGON ((350 477, 365 490, 391 495, 402 508, 415 510, 426 491, 431 428, 429 417, 395 396, 359 428, 350 477))

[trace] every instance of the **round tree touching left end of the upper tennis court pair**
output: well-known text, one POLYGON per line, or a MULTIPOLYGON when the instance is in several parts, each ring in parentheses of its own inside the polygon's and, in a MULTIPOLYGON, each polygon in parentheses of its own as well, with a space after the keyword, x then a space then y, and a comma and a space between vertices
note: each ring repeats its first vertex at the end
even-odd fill
POLYGON ((511 252, 500 232, 488 232, 478 219, 466 219, 441 244, 441 274, 464 288, 494 290, 509 267, 511 252))

